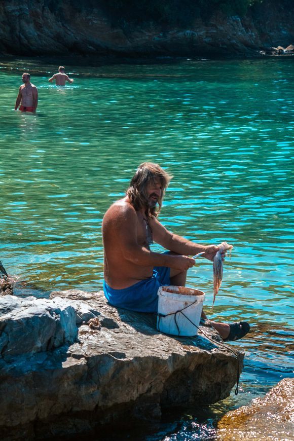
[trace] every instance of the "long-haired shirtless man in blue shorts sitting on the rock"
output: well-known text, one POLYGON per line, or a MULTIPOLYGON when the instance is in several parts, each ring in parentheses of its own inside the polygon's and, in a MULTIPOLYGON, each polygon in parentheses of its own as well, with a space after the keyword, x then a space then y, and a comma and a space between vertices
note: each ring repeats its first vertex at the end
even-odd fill
MULTIPOLYGON (((185 286, 187 270, 195 265, 189 256, 204 252, 202 256, 211 261, 218 251, 218 246, 177 236, 158 221, 171 177, 158 164, 144 162, 134 174, 126 196, 108 208, 103 217, 103 289, 111 305, 157 313, 158 288, 185 286), (153 241, 169 252, 151 251, 153 241)), ((204 312, 202 318, 207 318, 204 312)), ((238 340, 250 328, 247 322, 210 324, 224 341, 238 340)))

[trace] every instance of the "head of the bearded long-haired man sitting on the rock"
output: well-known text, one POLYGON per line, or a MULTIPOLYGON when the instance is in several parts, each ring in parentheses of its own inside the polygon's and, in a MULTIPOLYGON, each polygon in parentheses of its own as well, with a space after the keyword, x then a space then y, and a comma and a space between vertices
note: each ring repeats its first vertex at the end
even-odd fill
POLYGON ((147 216, 157 216, 171 178, 172 176, 158 164, 152 162, 140 164, 126 192, 135 210, 143 210, 147 216), (157 204, 159 208, 156 211, 157 204))

